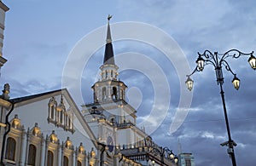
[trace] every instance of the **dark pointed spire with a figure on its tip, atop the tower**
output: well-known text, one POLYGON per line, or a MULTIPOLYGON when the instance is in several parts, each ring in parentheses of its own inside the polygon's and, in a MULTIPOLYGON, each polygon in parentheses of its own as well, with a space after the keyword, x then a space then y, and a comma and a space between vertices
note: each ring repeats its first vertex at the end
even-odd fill
POLYGON ((112 18, 112 15, 108 14, 108 30, 107 30, 107 39, 106 39, 106 47, 104 54, 103 65, 115 65, 113 59, 113 46, 112 46, 112 38, 111 31, 109 26, 109 20, 112 18))

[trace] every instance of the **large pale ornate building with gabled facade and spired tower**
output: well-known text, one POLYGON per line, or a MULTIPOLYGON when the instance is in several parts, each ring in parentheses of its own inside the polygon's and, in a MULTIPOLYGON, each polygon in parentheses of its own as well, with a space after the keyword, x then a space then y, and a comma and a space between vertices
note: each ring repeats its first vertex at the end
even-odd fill
POLYGON ((127 86, 114 62, 110 18, 101 78, 91 87, 93 102, 82 110, 67 89, 9 99, 9 84, 4 85, 1 164, 177 165, 171 150, 137 128, 137 110, 125 100, 127 86))

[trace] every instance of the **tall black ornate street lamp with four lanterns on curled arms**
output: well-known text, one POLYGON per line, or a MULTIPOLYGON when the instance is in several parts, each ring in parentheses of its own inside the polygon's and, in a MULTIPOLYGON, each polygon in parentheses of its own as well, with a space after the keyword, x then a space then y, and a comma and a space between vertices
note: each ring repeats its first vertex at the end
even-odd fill
POLYGON ((205 50, 203 54, 198 53, 198 59, 195 61, 197 66, 195 67, 195 70, 187 75, 187 81, 186 85, 189 90, 192 90, 193 88, 193 83, 194 81, 190 78, 195 72, 202 72, 204 69, 204 66, 207 66, 208 64, 211 64, 214 66, 216 77, 217 77, 217 83, 220 86, 220 94, 221 94, 221 99, 222 99, 222 104, 224 108, 224 117, 225 117, 225 123, 226 123, 226 129, 228 132, 229 140, 222 143, 221 146, 228 146, 228 153, 230 154, 233 166, 236 166, 236 157, 235 157, 235 152, 234 152, 234 146, 236 146, 236 142, 231 139, 231 134, 230 134, 230 125, 229 125, 229 119, 227 116, 227 110, 225 106, 225 100, 224 100, 224 90, 223 90, 223 83, 224 83, 224 77, 223 77, 223 72, 222 72, 222 66, 225 67, 225 69, 233 74, 234 78, 232 80, 232 83, 234 85, 235 89, 239 89, 240 86, 240 79, 236 77, 236 74, 230 69, 230 65, 226 61, 227 58, 239 58, 240 56, 248 56, 250 55, 248 59, 248 63, 250 66, 255 70, 256 69, 256 58, 253 56, 253 51, 251 53, 242 53, 241 51, 237 49, 230 49, 224 54, 218 54, 218 52, 214 52, 212 54, 211 51, 205 50))

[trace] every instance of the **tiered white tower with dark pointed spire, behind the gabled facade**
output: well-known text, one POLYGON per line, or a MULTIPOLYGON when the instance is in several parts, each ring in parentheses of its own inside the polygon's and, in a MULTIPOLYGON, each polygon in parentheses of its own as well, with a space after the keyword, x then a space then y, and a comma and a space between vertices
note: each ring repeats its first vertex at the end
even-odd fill
MULTIPOLYGON (((138 136, 135 134, 136 110, 125 101, 127 86, 119 80, 119 66, 115 64, 113 44, 108 15, 107 38, 103 63, 100 66, 100 79, 93 84, 94 100, 83 107, 85 121, 96 137, 96 141, 108 146, 106 153, 98 150, 97 156, 104 156, 108 165, 118 162, 114 153, 116 146, 135 144, 138 136)), ((141 136, 143 138, 143 136, 141 136)))

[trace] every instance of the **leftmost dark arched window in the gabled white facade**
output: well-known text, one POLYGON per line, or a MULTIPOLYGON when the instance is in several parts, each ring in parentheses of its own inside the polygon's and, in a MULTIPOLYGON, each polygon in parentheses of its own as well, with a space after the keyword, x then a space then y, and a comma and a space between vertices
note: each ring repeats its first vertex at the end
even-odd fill
POLYGON ((15 150, 16 150, 16 141, 15 139, 9 137, 7 139, 5 158, 15 161, 15 150))

